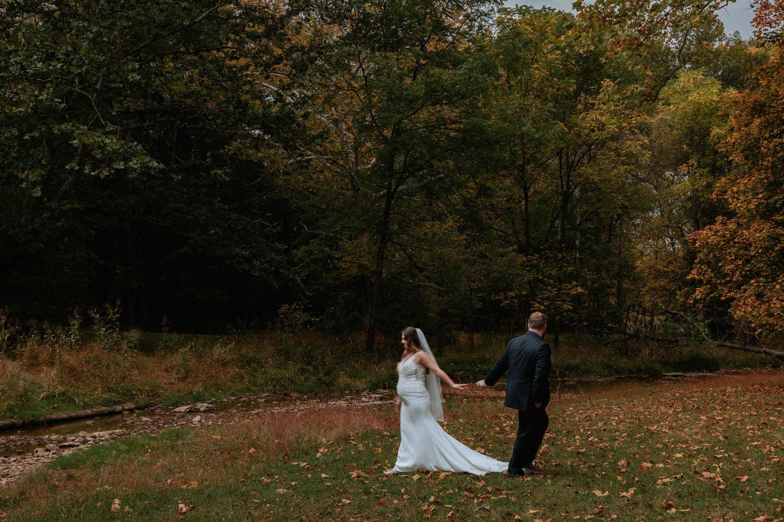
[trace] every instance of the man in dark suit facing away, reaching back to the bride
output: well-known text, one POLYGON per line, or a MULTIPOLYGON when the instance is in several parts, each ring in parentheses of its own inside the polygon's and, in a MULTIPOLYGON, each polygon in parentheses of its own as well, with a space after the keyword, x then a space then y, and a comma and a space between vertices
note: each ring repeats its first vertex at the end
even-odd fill
POLYGON ((523 469, 541 473, 534 457, 542 444, 550 419, 545 408, 550 403, 550 345, 544 342, 547 317, 534 312, 528 317, 528 332, 512 339, 506 351, 492 367, 485 380, 477 382, 480 388, 493 386, 509 370, 506 382, 507 408, 517 410, 517 439, 509 461, 509 476, 524 475, 523 469))

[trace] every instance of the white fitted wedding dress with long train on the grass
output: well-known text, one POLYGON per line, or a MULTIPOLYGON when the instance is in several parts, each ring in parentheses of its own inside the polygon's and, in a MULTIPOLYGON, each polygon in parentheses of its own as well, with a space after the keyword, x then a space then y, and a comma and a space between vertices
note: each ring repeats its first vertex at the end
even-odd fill
POLYGON ((477 453, 438 425, 430 411, 425 370, 416 364, 414 357, 397 364, 397 394, 402 404, 400 448, 394 471, 408 473, 423 468, 427 471, 464 471, 484 475, 507 469, 507 462, 477 453))

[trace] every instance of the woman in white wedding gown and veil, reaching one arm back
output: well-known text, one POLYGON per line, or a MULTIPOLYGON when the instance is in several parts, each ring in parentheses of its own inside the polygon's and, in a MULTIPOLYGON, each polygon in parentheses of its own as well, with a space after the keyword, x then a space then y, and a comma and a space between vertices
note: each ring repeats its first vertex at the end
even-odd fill
POLYGON ((384 473, 408 473, 423 468, 484 475, 507 469, 506 462, 477 453, 438 425, 437 420, 444 420, 438 379, 459 390, 467 385, 455 384, 438 368, 419 328, 403 330, 401 343, 405 352, 397 364, 398 397, 395 401, 395 411, 400 413, 400 448, 394 468, 384 473))

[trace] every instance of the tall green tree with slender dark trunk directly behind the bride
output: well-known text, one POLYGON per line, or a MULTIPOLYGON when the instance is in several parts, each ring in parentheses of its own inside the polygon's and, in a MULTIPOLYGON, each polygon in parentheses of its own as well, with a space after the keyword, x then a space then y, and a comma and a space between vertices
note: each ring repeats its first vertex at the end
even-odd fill
POLYGON ((390 263, 425 270, 423 223, 432 195, 445 190, 449 144, 462 125, 457 108, 486 83, 470 44, 487 8, 474 0, 347 2, 323 15, 331 45, 314 80, 325 142, 307 223, 318 237, 300 255, 338 270, 326 278, 332 288, 361 288, 368 351, 390 263), (393 263, 390 251, 405 262, 393 263))

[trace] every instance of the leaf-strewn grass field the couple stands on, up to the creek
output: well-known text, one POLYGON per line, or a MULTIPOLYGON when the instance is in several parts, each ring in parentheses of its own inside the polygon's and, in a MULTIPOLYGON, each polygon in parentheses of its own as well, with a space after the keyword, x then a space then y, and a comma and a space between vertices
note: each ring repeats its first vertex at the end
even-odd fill
MULTIPOLYGON (((472 391, 476 395, 476 391, 472 391)), ((2 520, 784 520, 784 375, 621 385, 551 404, 540 477, 384 477, 391 408, 326 408, 125 439, 0 491, 2 520), (114 508, 113 508, 114 506, 114 508)), ((514 411, 446 400, 445 428, 507 459, 514 411)))

